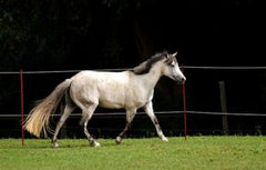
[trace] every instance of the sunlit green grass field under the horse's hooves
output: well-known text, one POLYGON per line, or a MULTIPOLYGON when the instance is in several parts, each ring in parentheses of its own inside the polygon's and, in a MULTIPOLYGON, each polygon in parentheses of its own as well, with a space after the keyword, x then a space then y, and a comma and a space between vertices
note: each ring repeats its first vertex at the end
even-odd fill
POLYGON ((0 140, 0 170, 265 170, 266 137, 190 137, 114 140, 100 139, 100 148, 85 139, 0 140))

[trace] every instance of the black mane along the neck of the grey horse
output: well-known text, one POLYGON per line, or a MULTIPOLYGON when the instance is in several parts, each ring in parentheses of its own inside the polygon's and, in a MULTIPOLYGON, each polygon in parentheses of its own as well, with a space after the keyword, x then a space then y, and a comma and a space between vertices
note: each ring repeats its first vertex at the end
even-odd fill
POLYGON ((134 67, 130 71, 134 72, 135 74, 147 73, 154 63, 156 63, 160 60, 163 60, 165 57, 167 57, 167 54, 168 54, 167 51, 155 53, 150 59, 147 59, 146 61, 142 62, 141 64, 134 67))

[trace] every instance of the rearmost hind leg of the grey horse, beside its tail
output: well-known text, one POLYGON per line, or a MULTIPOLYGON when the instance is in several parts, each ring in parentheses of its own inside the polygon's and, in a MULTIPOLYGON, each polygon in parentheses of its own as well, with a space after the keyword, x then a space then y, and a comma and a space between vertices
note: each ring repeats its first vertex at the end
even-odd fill
POLYGON ((74 110, 75 104, 71 101, 69 97, 65 97, 65 102, 61 104, 61 118, 57 124, 53 138, 52 138, 52 147, 57 148, 59 147, 57 140, 60 129, 62 128, 65 120, 69 118, 71 112, 74 110))

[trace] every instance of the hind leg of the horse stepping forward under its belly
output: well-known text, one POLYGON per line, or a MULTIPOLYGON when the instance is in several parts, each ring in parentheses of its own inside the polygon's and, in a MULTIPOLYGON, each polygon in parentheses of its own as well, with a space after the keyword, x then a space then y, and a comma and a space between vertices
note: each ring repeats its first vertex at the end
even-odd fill
POLYGON ((100 143, 89 133, 86 126, 88 126, 88 122, 91 119, 93 112, 95 111, 96 107, 98 107, 98 104, 91 103, 89 107, 82 108, 81 124, 83 124, 84 134, 88 138, 88 140, 92 147, 100 147, 100 143))

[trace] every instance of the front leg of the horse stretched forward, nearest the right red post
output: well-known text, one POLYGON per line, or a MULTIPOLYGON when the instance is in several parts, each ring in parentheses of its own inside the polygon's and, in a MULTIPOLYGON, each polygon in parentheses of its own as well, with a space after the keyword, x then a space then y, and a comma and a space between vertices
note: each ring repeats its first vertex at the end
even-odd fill
POLYGON ((145 112, 147 113, 147 116, 151 118, 154 127, 156 128, 156 131, 157 131, 158 137, 160 137, 163 141, 167 142, 168 139, 164 136, 164 133, 163 133, 163 131, 162 131, 162 129, 161 129, 161 127, 160 127, 160 124, 158 124, 158 120, 157 120, 156 116, 154 114, 152 102, 149 102, 145 107, 143 107, 143 109, 145 110, 145 112))

